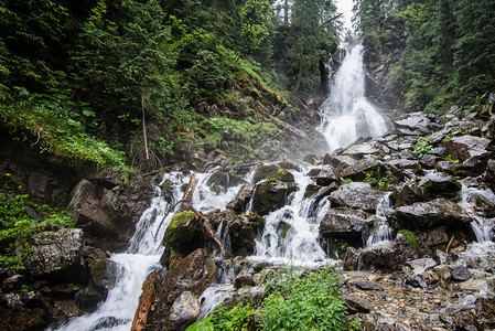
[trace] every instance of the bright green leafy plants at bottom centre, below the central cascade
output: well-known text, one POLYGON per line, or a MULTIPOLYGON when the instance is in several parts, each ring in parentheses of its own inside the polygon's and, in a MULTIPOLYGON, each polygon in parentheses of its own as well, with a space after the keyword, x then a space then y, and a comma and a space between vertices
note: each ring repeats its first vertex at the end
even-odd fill
POLYGON ((212 317, 215 330, 359 330, 358 321, 347 324, 345 306, 338 298, 340 276, 331 267, 316 271, 290 268, 265 277, 267 298, 259 308, 246 299, 227 309, 218 307, 212 317))

